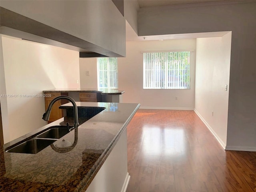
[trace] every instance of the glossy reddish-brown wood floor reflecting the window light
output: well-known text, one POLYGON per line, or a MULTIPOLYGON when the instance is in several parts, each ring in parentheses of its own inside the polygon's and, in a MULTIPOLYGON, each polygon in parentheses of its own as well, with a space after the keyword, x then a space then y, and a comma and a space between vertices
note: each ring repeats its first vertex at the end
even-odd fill
POLYGON ((256 192, 256 152, 225 151, 192 110, 139 109, 127 192, 256 192))

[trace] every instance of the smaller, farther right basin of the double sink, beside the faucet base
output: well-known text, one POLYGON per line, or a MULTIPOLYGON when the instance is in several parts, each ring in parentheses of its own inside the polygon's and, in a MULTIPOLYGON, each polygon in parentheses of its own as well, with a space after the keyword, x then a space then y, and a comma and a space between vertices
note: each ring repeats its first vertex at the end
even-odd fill
MULTIPOLYGON (((69 128, 72 128, 72 127, 69 127, 69 128)), ((69 128, 67 128, 66 126, 52 126, 52 128, 50 128, 46 132, 41 133, 40 135, 38 135, 36 137, 37 138, 59 139, 70 132, 69 128)))

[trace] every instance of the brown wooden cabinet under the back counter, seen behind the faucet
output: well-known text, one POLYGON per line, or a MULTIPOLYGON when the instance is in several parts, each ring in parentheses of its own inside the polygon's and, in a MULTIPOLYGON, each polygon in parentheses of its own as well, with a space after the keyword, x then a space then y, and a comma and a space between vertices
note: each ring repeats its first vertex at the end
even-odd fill
MULTIPOLYGON (((68 93, 52 93, 52 92, 46 92, 44 93, 46 96, 49 96, 49 97, 45 97, 44 98, 44 102, 45 102, 45 110, 48 109, 48 106, 50 104, 50 102, 58 97, 58 96, 61 96, 61 95, 68 95, 68 93)), ((59 106, 60 105, 63 105, 65 103, 68 103, 68 100, 66 99, 62 99, 62 100, 58 100, 56 101, 53 106, 52 106, 52 111, 51 111, 51 114, 50 114, 50 118, 49 118, 49 121, 48 123, 50 122, 53 122, 53 121, 56 121, 60 118, 63 117, 63 113, 62 113, 62 109, 59 109, 59 106)))

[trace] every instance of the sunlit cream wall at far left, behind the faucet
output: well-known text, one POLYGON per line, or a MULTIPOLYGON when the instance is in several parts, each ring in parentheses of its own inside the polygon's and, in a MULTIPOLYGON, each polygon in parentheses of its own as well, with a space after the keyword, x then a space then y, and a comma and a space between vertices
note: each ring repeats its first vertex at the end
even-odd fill
MULTIPOLYGON (((44 126, 44 98, 21 94, 42 94, 52 88, 80 88, 79 52, 2 36, 4 75, 10 136, 4 127, 4 143, 44 126)), ((2 87, 2 75, 1 75, 2 87)), ((2 100, 1 100, 2 107, 2 100)))

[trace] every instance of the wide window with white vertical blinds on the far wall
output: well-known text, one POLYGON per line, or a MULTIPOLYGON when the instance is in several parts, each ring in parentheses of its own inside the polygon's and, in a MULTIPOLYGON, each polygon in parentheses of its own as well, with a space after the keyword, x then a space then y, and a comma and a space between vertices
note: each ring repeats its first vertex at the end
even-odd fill
POLYGON ((143 53, 144 89, 190 89, 190 52, 143 53))

